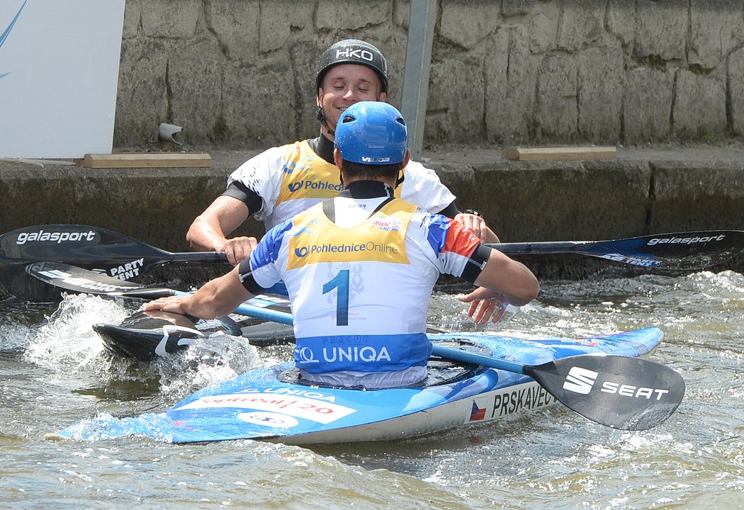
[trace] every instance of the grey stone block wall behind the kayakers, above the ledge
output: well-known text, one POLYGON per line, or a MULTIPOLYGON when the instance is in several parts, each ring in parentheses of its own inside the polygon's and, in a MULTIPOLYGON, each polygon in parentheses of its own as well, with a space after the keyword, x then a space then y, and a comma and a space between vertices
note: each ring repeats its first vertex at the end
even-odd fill
MULTIPOLYGON (((127 0, 115 146, 315 135, 315 62, 356 37, 400 106, 404 0, 127 0)), ((744 133, 743 0, 440 0, 425 143, 716 142, 744 133)))

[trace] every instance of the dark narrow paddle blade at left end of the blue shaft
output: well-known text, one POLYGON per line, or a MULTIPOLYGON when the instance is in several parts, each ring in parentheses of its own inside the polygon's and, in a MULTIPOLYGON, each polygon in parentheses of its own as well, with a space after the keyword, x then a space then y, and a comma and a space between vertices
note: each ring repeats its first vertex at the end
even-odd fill
POLYGON ((150 287, 127 282, 62 262, 35 262, 27 265, 25 271, 43 283, 78 294, 102 294, 147 299, 176 294, 176 291, 171 288, 150 287))

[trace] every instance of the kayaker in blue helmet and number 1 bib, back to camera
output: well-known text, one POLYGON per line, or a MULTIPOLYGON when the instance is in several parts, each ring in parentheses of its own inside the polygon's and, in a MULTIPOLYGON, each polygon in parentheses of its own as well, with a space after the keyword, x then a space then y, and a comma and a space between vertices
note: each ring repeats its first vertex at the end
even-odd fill
POLYGON ((409 157, 397 109, 371 101, 349 106, 336 124, 341 193, 273 227, 230 274, 144 309, 219 317, 283 280, 304 381, 367 389, 420 384, 432 352, 427 309, 440 274, 481 285, 478 299, 505 297, 517 306, 533 300, 539 285, 525 265, 481 244, 459 222, 395 198, 409 157))

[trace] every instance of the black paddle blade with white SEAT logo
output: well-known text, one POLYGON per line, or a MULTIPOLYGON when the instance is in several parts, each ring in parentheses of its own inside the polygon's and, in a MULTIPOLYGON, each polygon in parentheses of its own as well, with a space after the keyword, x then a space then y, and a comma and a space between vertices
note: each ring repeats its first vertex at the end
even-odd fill
POLYGON ((525 367, 524 372, 566 407, 621 430, 661 425, 684 396, 681 375, 641 358, 580 355, 525 367))

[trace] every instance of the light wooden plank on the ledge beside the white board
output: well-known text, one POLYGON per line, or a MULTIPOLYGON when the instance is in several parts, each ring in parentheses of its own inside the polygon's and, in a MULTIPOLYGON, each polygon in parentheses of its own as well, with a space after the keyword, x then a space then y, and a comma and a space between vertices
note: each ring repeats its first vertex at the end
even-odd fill
POLYGON ((185 168, 211 167, 208 154, 184 152, 127 152, 124 154, 86 154, 75 164, 86 168, 185 168))

